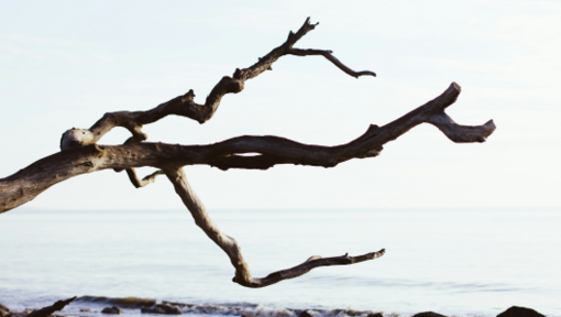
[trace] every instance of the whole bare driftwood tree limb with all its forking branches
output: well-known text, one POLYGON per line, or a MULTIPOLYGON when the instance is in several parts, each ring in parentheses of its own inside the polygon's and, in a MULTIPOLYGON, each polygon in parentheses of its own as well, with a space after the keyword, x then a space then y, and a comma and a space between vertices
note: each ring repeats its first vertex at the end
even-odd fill
POLYGON ((284 55, 321 55, 350 76, 375 76, 373 72, 350 69, 337 59, 331 51, 294 48, 296 42, 314 30, 316 25, 307 19, 298 32, 290 32, 288 39, 280 46, 260 58, 256 64, 248 68, 235 69, 232 77, 223 77, 210 91, 204 105, 196 103, 194 101, 195 94, 189 90, 184 96, 147 111, 106 113, 90 129, 66 131, 61 140, 61 152, 38 160, 15 174, 0 179, 0 214, 32 200, 59 182, 86 173, 109 168, 116 172, 124 170, 133 186, 138 188, 146 186, 154 182, 158 175, 165 174, 191 212, 197 226, 228 254, 235 269, 233 282, 240 285, 264 287, 283 280, 300 276, 319 266, 354 264, 382 256, 385 252, 384 249, 359 256, 345 254, 321 258, 315 255, 294 267, 271 273, 265 277, 253 277, 243 259, 240 245, 232 237, 221 232, 210 219, 202 203, 189 186, 183 167, 209 165, 223 171, 230 168, 267 170, 277 164, 333 167, 352 158, 377 156, 384 144, 396 140, 420 123, 430 123, 437 127, 453 142, 484 142, 495 130, 493 120, 482 125, 461 125, 446 113, 446 109, 457 100, 461 91, 460 86, 455 83, 452 83, 442 95, 424 106, 383 127, 371 124, 363 135, 337 146, 302 144, 272 135, 243 135, 207 145, 144 142, 147 136, 142 132, 142 127, 169 114, 183 116, 200 123, 206 122, 217 111, 220 100, 226 94, 242 91, 245 80, 272 69, 274 62, 284 55), (116 127, 129 129, 132 138, 122 145, 97 144, 106 133, 116 127), (244 155, 246 153, 256 155, 246 156, 244 155), (141 179, 134 168, 142 166, 156 167, 158 171, 141 179))

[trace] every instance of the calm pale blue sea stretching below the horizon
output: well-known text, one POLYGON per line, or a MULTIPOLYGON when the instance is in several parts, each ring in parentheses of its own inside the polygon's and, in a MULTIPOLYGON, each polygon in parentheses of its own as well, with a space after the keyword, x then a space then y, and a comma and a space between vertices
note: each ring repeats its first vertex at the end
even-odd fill
MULTIPOLYGON (((315 254, 387 252, 250 289, 231 282, 229 259, 186 210, 15 209, 0 215, 0 303, 23 309, 74 295, 135 296, 194 304, 187 314, 316 308, 340 317, 360 313, 338 309, 496 316, 518 305, 561 316, 561 209, 209 212, 241 243, 254 276, 315 254)), ((99 316, 98 299, 65 311, 99 316)))

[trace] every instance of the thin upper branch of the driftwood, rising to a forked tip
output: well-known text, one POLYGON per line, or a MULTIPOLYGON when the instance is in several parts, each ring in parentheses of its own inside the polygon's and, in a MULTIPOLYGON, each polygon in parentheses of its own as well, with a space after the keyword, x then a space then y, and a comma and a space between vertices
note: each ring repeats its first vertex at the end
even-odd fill
MULTIPOLYGON (((190 118, 205 123, 210 120, 215 112, 220 106, 222 97, 227 94, 238 94, 243 90, 245 80, 254 78, 261 75, 263 72, 273 69, 272 65, 278 58, 284 55, 323 55, 326 58, 331 61, 337 67, 345 72, 346 74, 359 77, 362 75, 376 76, 372 72, 360 72, 355 73, 349 67, 344 66, 339 59, 326 53, 328 51, 311 50, 312 53, 299 53, 305 52, 302 50, 293 48, 304 35, 314 30, 319 23, 311 24, 310 18, 306 19, 304 24, 300 26, 298 32, 288 34, 288 39, 280 46, 271 51, 267 55, 258 59, 254 65, 239 69, 237 68, 232 77, 224 76, 220 81, 212 88, 208 95, 204 105, 196 103, 194 101, 195 92, 193 90, 187 91, 183 96, 178 96, 167 102, 157 106, 154 109, 147 111, 118 111, 108 112, 101 119, 99 119, 90 129, 76 129, 73 128, 63 133, 61 139, 61 150, 68 150, 73 147, 85 146, 97 143, 107 132, 116 127, 123 127, 128 129, 133 138, 138 141, 145 141, 147 135, 142 132, 142 125, 153 123, 160 119, 175 114, 190 118), (322 52, 322 53, 320 53, 322 52), (316 54, 317 53, 317 54, 316 54)), ((330 51, 329 51, 330 52, 330 51)))

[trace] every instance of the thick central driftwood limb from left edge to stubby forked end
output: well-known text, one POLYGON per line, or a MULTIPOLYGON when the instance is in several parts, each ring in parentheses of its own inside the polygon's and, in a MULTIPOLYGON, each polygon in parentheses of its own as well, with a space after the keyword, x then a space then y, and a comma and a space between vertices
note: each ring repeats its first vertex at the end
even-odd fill
POLYGON ((211 165, 221 170, 266 170, 277 164, 332 167, 351 158, 373 157, 383 145, 411 128, 427 122, 438 127, 454 142, 484 142, 495 131, 493 121, 483 125, 460 125, 444 110, 460 94, 452 83, 436 99, 383 127, 369 130, 346 144, 321 146, 298 143, 278 136, 239 136, 209 145, 178 145, 129 142, 123 145, 97 145, 69 149, 0 179, 0 212, 21 206, 48 187, 70 177, 100 170, 127 170, 152 166, 161 170, 186 165, 211 165), (243 156, 257 153, 256 156, 243 156))

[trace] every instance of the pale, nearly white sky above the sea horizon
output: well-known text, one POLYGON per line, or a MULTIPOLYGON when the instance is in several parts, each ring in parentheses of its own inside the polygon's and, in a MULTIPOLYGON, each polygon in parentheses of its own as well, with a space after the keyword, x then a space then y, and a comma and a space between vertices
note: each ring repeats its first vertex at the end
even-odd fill
MULTIPOLYGON (((447 111, 497 130, 455 144, 421 124, 374 158, 334 168, 219 171, 187 166, 208 208, 561 208, 559 1, 1 1, 0 177, 53 154, 67 129, 105 112, 147 110, 248 67, 297 31, 332 50, 355 79, 319 56, 285 56, 205 124, 168 117, 148 141, 207 144, 238 135, 346 143, 457 81, 447 111)), ((100 144, 129 138, 114 129, 100 144)), ((151 173, 140 168, 140 174, 151 173)), ((165 177, 136 189, 102 171, 57 184, 22 208, 180 209, 165 177)))

